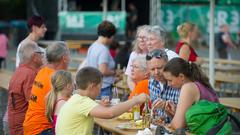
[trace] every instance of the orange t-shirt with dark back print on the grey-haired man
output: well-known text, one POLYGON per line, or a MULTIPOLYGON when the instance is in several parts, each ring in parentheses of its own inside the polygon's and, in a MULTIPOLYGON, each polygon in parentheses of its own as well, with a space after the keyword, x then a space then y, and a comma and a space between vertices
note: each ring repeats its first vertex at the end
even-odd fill
POLYGON ((51 89, 51 76, 54 69, 43 67, 37 74, 23 123, 24 135, 36 135, 52 128, 45 115, 45 96, 51 89))

